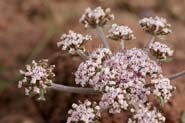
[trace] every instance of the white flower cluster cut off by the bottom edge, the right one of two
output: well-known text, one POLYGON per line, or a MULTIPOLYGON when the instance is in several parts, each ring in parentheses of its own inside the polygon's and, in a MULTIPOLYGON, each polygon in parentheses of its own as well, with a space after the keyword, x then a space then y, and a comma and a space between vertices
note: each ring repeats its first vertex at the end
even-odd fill
POLYGON ((142 106, 129 118, 128 123, 165 123, 166 118, 156 109, 150 106, 142 106))

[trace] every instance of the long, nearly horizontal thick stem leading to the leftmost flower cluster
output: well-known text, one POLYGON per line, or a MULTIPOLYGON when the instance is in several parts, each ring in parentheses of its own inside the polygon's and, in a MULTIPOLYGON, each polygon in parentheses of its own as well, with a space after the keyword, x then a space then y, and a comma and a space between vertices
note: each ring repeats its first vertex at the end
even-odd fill
POLYGON ((70 86, 60 85, 55 83, 53 83, 50 88, 58 91, 65 91, 65 92, 78 93, 78 94, 97 94, 98 93, 92 88, 70 87, 70 86))

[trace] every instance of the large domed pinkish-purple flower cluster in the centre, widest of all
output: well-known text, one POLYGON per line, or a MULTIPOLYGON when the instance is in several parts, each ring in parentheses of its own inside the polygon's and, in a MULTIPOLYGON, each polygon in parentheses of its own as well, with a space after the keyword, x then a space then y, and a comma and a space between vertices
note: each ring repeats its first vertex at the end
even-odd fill
POLYGON ((161 72, 161 67, 143 50, 137 48, 115 54, 106 60, 103 66, 100 80, 96 83, 96 88, 100 91, 106 91, 108 86, 116 86, 119 83, 134 84, 138 78, 154 76, 161 72))

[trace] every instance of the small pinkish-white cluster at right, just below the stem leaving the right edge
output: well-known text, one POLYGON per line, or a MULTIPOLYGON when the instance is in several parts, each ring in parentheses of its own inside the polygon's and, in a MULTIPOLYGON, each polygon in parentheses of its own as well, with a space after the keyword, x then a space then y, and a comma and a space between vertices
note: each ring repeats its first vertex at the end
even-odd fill
POLYGON ((162 97, 166 103, 172 96, 172 91, 175 89, 170 84, 170 80, 160 75, 157 79, 152 79, 151 83, 154 84, 152 93, 158 97, 162 97))

